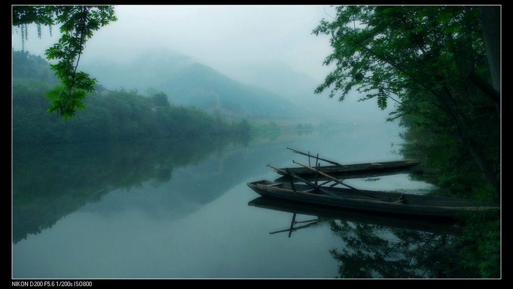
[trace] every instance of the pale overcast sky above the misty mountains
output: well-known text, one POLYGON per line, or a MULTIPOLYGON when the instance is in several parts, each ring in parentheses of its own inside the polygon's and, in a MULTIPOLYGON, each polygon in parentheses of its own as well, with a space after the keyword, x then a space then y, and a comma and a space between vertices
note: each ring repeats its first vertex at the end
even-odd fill
MULTIPOLYGON (((118 21, 94 33, 81 61, 126 61, 136 51, 165 48, 234 79, 255 62, 282 62, 320 81, 329 72, 322 65, 331 52, 329 37, 311 34, 322 18, 333 15, 329 6, 121 5, 114 11, 118 21)), ((25 42, 31 54, 43 55, 58 39, 48 39, 48 28, 43 27, 40 40, 35 26, 31 29, 25 42)), ((21 50, 19 38, 14 31, 15 50, 21 50)))

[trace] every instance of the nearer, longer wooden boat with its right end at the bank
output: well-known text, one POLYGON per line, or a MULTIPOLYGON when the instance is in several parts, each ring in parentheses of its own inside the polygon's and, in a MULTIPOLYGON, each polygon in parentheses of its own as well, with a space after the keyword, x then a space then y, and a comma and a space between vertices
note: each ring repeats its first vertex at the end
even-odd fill
POLYGON ((457 198, 332 186, 314 187, 292 182, 281 183, 266 180, 250 182, 247 185, 264 197, 392 215, 453 218, 463 211, 500 211, 500 205, 497 203, 457 198))

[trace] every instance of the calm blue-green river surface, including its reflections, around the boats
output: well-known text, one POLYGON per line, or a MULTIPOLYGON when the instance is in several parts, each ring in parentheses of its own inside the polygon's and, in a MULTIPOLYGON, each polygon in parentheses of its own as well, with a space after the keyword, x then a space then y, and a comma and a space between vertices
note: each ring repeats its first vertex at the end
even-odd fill
MULTIPOLYGON (((398 132, 15 148, 12 277, 438 278, 452 238, 439 226, 299 211, 246 185, 277 178, 269 163, 308 162, 286 147, 342 163, 400 160, 398 132)), ((406 174, 371 180, 347 183, 430 188, 406 174)))

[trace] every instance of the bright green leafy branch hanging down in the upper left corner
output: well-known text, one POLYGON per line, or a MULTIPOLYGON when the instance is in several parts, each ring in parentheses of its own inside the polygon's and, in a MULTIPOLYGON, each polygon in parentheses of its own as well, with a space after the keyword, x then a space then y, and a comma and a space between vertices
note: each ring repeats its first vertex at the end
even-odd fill
POLYGON ((84 108, 83 101, 92 92, 95 79, 87 73, 77 71, 80 55, 93 32, 116 21, 111 6, 13 6, 12 25, 22 31, 22 39, 27 37, 27 25, 36 24, 38 36, 41 26, 61 25, 62 34, 58 43, 46 50, 48 60, 57 60, 51 65, 61 81, 60 86, 45 96, 51 100, 48 112, 56 111, 62 118, 69 119, 76 109, 84 108))

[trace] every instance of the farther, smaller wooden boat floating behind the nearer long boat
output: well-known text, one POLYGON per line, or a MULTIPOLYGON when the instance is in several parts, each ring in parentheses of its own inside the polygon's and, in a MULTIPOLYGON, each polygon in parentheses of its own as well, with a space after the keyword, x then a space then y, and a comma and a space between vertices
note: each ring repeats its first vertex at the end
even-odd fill
MULTIPOLYGON (((288 148, 287 149, 291 149, 288 148)), ((393 161, 393 162, 380 162, 380 163, 362 163, 362 164, 339 164, 337 162, 333 162, 330 160, 319 158, 319 156, 312 156, 310 153, 301 152, 299 150, 291 149, 295 153, 299 153, 300 155, 312 157, 315 159, 316 163, 318 161, 324 161, 330 163, 331 165, 319 166, 319 170, 325 172, 326 174, 336 175, 336 176, 345 176, 345 175, 362 175, 362 174, 380 174, 386 173, 388 171, 398 171, 398 170, 406 170, 413 166, 417 166, 420 163, 417 161, 393 161)), ((315 175, 315 171, 312 171, 305 167, 289 167, 289 168, 281 168, 279 170, 275 169, 276 172, 280 175, 286 175, 285 171, 288 171, 294 175, 301 177, 311 177, 315 175)))

